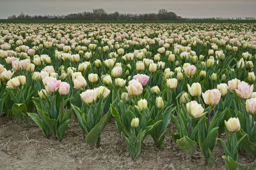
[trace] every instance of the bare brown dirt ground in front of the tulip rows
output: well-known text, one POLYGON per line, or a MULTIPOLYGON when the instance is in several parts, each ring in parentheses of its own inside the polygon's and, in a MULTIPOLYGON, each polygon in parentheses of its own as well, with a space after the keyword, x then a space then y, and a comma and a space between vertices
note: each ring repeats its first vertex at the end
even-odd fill
MULTIPOLYGON (((113 120, 102 132, 100 147, 91 148, 74 118, 61 142, 45 138, 33 122, 26 126, 14 118, 0 118, 0 169, 225 169, 220 143, 214 150, 216 164, 207 166, 199 151, 193 159, 186 158, 170 135, 164 145, 159 150, 148 136, 141 155, 132 160, 113 120)), ((239 162, 247 164, 252 159, 240 154, 239 162)))

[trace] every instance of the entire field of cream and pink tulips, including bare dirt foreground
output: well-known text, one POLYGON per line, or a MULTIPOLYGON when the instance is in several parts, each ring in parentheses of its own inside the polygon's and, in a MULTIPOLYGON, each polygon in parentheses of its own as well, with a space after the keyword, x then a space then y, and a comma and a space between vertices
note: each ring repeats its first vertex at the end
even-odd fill
POLYGON ((0 169, 256 168, 256 24, 0 25, 0 169))

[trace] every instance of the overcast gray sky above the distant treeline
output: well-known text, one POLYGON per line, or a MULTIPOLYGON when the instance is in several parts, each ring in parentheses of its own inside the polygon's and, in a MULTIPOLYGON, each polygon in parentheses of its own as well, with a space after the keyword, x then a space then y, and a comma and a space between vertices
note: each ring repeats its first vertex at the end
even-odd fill
POLYGON ((256 0, 0 0, 0 18, 67 15, 104 8, 108 13, 152 13, 164 8, 181 17, 256 17, 256 0))

